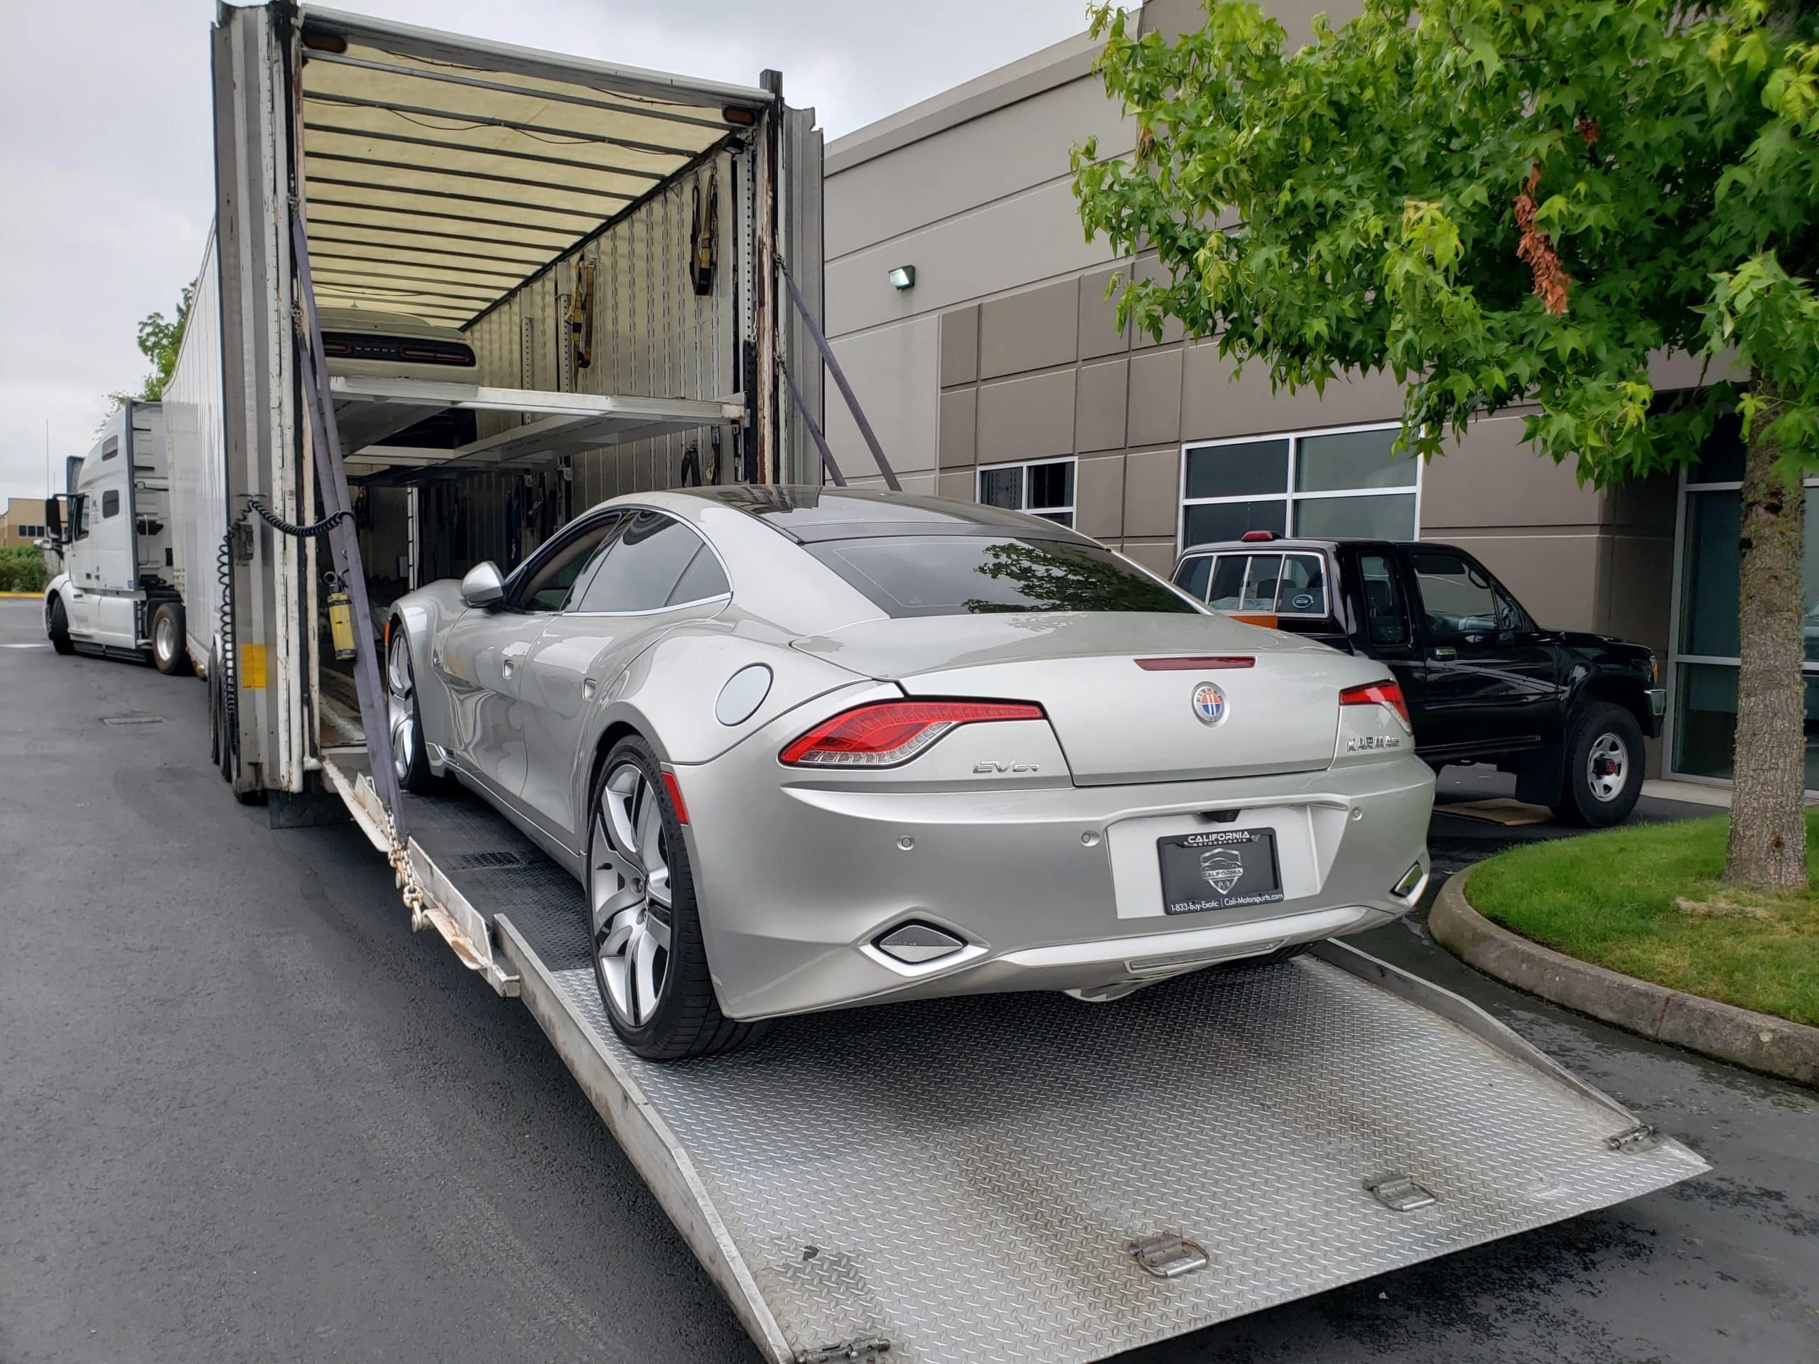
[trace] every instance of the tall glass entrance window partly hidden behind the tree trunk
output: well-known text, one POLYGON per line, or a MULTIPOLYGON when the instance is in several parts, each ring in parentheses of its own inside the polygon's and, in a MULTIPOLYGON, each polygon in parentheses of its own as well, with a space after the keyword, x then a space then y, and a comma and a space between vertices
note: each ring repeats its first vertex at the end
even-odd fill
MULTIPOLYGON (((1737 537, 1743 438, 1713 433, 1681 476, 1679 575, 1668 669, 1668 769, 1730 780, 1737 735, 1737 537)), ((1819 478, 1806 480, 1801 635, 1806 644, 1806 787, 1819 791, 1819 478)))

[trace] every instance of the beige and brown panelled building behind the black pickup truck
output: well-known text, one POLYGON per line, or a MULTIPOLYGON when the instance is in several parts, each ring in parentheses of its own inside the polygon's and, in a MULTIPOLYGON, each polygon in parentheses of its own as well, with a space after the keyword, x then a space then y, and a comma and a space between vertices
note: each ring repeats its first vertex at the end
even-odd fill
MULTIPOLYGON (((1295 36, 1333 7, 1273 9, 1295 36)), ((1170 31, 1195 15, 1191 0, 1151 0, 1142 22, 1170 31)), ((1388 375, 1324 396, 1271 393, 1262 367, 1233 378, 1211 342, 1179 329, 1161 344, 1121 335, 1106 286, 1151 266, 1084 240, 1068 171, 1088 136, 1102 155, 1133 144, 1091 73, 1095 51, 1082 33, 828 144, 828 335, 904 487, 1070 520, 1159 573, 1184 547, 1244 529, 1464 546, 1544 626, 1655 649, 1675 711, 1652 771, 1728 777, 1734 478, 1581 487, 1524 446, 1521 413, 1473 422, 1422 467, 1390 458, 1402 400, 1388 375), (1677 553, 1703 500, 1717 538, 1677 553), (1679 613, 1683 598, 1697 613, 1679 613)), ((1697 366, 1663 360, 1655 380, 1695 384, 1697 366)), ((828 393, 842 469, 877 482, 828 393)))

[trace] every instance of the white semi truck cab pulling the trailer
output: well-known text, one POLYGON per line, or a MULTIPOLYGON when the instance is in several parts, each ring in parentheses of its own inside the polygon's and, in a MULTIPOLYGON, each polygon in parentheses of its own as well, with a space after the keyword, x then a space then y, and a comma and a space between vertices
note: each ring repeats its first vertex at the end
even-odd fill
POLYGON ((65 462, 64 491, 47 511, 49 546, 62 558, 44 589, 56 651, 184 671, 162 406, 120 404, 89 453, 65 462))

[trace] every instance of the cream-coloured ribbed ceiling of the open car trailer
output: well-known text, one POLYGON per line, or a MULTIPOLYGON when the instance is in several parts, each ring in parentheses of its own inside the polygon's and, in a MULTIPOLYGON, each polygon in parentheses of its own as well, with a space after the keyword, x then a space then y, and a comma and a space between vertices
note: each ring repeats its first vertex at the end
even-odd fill
POLYGON ((327 9, 304 11, 302 42, 318 302, 447 326, 471 324, 771 100, 327 9))

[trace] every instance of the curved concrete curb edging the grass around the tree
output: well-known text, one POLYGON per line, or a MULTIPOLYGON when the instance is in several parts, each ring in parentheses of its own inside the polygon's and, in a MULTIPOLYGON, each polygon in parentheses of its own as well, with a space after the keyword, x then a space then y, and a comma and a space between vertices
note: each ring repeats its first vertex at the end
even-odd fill
POLYGON ((1657 1042, 1819 1086, 1819 1028, 1739 1009, 1581 962, 1499 928, 1466 900, 1466 873, 1441 888, 1428 928, 1484 975, 1657 1042))

